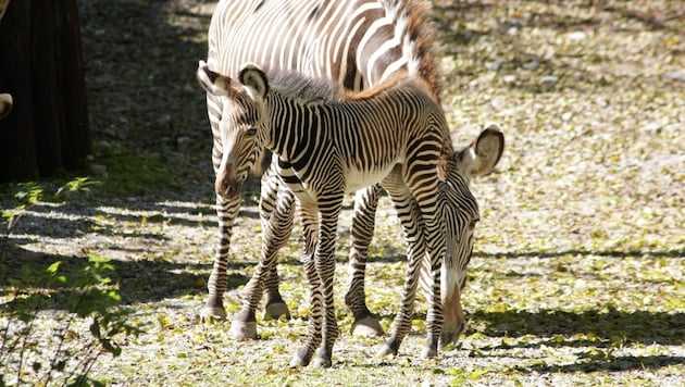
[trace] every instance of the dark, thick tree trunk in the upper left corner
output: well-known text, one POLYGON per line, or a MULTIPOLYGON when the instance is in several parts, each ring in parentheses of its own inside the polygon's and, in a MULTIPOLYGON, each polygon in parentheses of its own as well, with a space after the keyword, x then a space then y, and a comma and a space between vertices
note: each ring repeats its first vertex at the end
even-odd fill
POLYGON ((76 0, 14 0, 0 21, 0 182, 84 166, 90 153, 76 0))

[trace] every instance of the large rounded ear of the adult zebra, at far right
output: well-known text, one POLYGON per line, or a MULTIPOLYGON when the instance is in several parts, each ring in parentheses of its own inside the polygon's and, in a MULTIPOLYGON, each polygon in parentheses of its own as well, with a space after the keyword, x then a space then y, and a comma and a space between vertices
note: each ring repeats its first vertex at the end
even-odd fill
POLYGON ((462 174, 472 178, 493 172, 503 151, 505 135, 497 124, 490 124, 469 147, 454 153, 454 161, 462 174))

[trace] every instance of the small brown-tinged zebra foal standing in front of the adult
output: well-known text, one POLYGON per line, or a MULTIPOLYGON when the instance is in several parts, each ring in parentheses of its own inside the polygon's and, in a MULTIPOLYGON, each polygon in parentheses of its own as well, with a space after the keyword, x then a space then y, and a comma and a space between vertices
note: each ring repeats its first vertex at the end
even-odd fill
MULTIPOLYGON (((378 182, 396 208, 419 212, 413 214, 421 219, 412 233, 415 240, 408 244, 416 251, 409 254, 411 280, 406 287, 415 292, 427 252, 432 292, 422 355, 437 355, 443 327, 440 265, 450 259, 446 257, 445 196, 438 195, 438 186, 450 173, 447 168, 459 161, 456 155, 463 154, 452 151, 440 107, 425 84, 413 76, 395 78, 360 95, 341 95, 334 87, 312 91, 311 79, 297 74, 275 75, 270 83, 259 67, 250 65, 235 80, 210 70, 203 61, 197 72, 208 93, 222 99, 220 135, 226 143, 240 145, 240 149, 224 152, 239 152, 245 155, 242 164, 249 165, 264 147, 271 149, 279 157, 282 180, 300 202, 312 315, 306 344, 290 365, 309 364, 320 346, 314 364, 332 364, 338 336, 333 303, 337 219, 346 192, 378 182)), ((226 175, 242 167, 221 166, 226 175)), ((219 195, 235 195, 228 184, 220 187, 220 180, 219 195)), ((477 209, 470 210, 477 213, 477 209)), ((409 326, 401 327, 382 351, 396 352, 408 332, 409 326)))

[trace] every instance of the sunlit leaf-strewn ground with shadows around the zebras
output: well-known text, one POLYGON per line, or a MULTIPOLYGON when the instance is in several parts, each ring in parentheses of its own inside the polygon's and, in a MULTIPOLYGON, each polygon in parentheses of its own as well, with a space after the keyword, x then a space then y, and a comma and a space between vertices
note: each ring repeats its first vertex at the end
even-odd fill
MULTIPOLYGON (((344 334, 325 371, 286 369, 309 314, 299 227, 279 265, 291 321, 260 322, 261 339, 244 342, 228 338, 229 322, 198 319, 215 219, 194 74, 213 5, 82 2, 92 166, 77 186, 65 185, 74 176, 40 182, 41 200, 24 210, 15 194, 30 186, 0 191, 3 213, 15 214, 0 239, 3 315, 16 295, 36 291, 26 272, 102 257, 145 330, 122 341, 121 357, 95 363, 90 376, 111 385, 684 383, 685 5, 433 1, 454 142, 466 146, 487 122, 507 140, 496 172, 472 184, 481 222, 463 296, 469 327, 428 361, 419 358, 423 302, 398 357, 374 357, 383 338, 347 334, 348 198, 337 251, 344 334)), ((258 191, 253 179, 232 241, 229 312, 259 251, 258 191)), ((369 300, 388 330, 404 252, 387 198, 371 255, 369 300)), ((64 309, 59 297, 39 309, 33 337, 43 352, 64 309)), ((40 373, 27 370, 25 380, 40 373)))

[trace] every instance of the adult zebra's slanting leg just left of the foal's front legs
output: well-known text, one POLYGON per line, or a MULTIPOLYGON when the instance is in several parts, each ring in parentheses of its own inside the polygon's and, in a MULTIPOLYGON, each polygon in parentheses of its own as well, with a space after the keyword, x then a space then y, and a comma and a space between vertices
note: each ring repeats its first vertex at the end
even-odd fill
MULTIPOLYGON (((292 192, 288 189, 282 189, 276 205, 267 222, 263 222, 263 242, 260 260, 252 278, 245 286, 242 296, 242 308, 236 313, 231 325, 231 337, 236 340, 246 340, 257 338, 257 320, 254 317, 259 301, 262 298, 262 291, 269 287, 276 289, 276 295, 281 303, 285 308, 285 312, 289 319, 289 312, 281 295, 278 294, 278 277, 274 276, 276 267, 276 257, 278 250, 288 241, 292 229, 292 192)), ((272 292, 273 295, 273 292, 272 292)), ((272 303, 275 298, 272 296, 272 303)))

